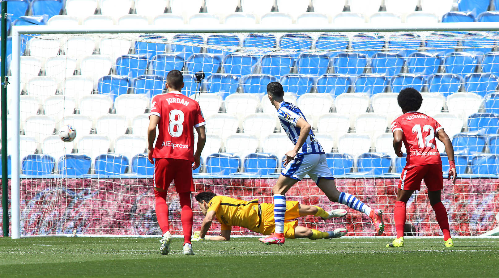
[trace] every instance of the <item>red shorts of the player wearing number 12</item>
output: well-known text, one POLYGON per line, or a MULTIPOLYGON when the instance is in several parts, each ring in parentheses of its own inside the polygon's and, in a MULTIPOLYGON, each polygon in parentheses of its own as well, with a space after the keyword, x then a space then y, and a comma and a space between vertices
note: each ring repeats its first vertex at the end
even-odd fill
POLYGON ((399 179, 399 189, 421 190, 421 181, 425 180, 428 191, 442 190, 442 164, 427 164, 402 170, 399 179))

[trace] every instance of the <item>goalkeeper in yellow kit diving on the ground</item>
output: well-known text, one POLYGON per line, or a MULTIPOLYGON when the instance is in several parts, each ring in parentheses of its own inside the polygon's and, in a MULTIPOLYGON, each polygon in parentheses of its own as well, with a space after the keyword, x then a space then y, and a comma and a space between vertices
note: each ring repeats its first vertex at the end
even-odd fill
MULTIPOLYGON (((201 231, 195 232, 192 241, 204 241, 206 233, 217 217, 221 225, 221 235, 206 238, 209 240, 230 240, 232 226, 247 228, 256 233, 270 235, 275 230, 274 204, 258 203, 258 199, 251 201, 238 200, 227 196, 217 195, 211 191, 200 192, 195 196, 205 219, 201 224, 201 231)), ((347 214, 344 209, 324 211, 318 206, 307 206, 296 201, 286 201, 284 214, 284 237, 288 239, 309 238, 332 239, 344 236, 348 231, 338 228, 334 231, 320 232, 314 229, 298 226, 298 217, 313 215, 323 220, 333 217, 343 217, 347 214)))

